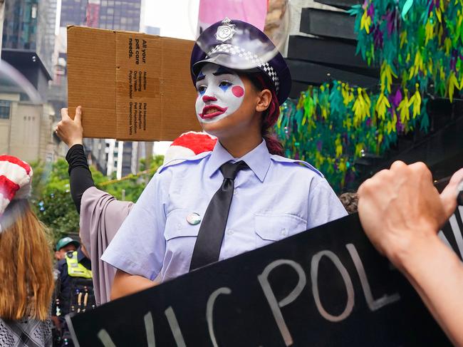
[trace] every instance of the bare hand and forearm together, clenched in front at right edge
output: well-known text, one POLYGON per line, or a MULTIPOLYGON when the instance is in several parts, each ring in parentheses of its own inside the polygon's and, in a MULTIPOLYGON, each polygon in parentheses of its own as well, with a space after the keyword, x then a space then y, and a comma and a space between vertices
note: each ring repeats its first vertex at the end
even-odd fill
POLYGON ((463 346, 463 266, 437 232, 457 207, 462 180, 463 169, 439 195, 425 164, 394 162, 358 190, 365 233, 405 274, 457 346, 463 346))

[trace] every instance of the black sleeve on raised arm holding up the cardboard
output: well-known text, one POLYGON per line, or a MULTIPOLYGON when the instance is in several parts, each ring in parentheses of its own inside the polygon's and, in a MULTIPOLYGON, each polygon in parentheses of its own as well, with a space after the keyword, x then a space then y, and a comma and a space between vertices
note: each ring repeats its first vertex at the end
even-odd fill
POLYGON ((69 185, 71 186, 71 197, 76 204, 77 212, 80 213, 80 200, 83 192, 95 186, 92 173, 88 168, 87 158, 83 152, 83 145, 73 145, 69 148, 66 160, 69 164, 69 185))

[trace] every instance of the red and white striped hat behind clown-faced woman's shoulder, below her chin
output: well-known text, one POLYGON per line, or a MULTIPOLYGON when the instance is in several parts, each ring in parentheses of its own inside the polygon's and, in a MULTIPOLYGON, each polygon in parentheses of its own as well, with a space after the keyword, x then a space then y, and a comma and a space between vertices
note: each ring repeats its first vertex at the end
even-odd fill
POLYGON ((214 149, 217 138, 207 133, 189 131, 183 133, 170 145, 164 156, 164 164, 172 160, 182 160, 194 157, 202 152, 209 152, 214 149))

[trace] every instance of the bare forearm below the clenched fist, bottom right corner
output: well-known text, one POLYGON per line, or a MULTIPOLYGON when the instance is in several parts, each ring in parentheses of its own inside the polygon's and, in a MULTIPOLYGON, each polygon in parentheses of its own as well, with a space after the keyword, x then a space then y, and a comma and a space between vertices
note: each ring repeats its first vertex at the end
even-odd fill
POLYGON ((463 265, 437 236, 400 255, 402 272, 455 346, 463 346, 463 265))

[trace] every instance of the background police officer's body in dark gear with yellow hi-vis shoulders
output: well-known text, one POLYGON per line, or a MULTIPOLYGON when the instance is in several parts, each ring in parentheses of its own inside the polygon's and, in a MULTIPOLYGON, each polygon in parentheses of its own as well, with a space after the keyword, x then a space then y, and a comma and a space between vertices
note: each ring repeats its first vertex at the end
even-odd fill
POLYGON ((76 251, 67 252, 65 259, 58 261, 56 269, 59 273, 52 308, 56 324, 53 346, 73 346, 64 317, 95 308, 92 266, 87 252, 80 246, 76 251))

